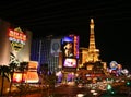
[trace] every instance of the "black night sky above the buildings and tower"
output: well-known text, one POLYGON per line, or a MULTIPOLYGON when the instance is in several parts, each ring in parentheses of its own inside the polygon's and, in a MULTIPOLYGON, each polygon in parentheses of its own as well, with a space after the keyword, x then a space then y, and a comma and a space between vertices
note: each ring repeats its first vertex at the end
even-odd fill
POLYGON ((0 1, 0 19, 32 31, 34 38, 74 33, 80 35, 81 47, 88 47, 91 17, 100 59, 130 65, 130 0, 0 1))

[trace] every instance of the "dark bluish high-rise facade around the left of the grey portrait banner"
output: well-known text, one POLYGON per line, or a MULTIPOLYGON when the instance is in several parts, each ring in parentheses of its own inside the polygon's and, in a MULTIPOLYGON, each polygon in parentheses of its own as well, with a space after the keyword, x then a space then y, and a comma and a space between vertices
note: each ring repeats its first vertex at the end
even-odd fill
POLYGON ((39 64, 48 64, 48 70, 55 72, 59 65, 59 56, 51 53, 52 38, 33 39, 31 60, 38 61, 39 64))

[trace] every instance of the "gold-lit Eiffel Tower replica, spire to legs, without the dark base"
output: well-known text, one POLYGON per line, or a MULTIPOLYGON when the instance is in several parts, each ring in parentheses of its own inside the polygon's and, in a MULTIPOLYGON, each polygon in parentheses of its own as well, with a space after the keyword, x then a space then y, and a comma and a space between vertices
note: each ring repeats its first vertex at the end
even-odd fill
POLYGON ((95 46, 94 20, 93 19, 91 19, 90 28, 91 28, 90 47, 88 47, 88 56, 87 56, 86 62, 96 62, 96 61, 99 61, 98 59, 99 50, 96 49, 96 46, 95 46))

